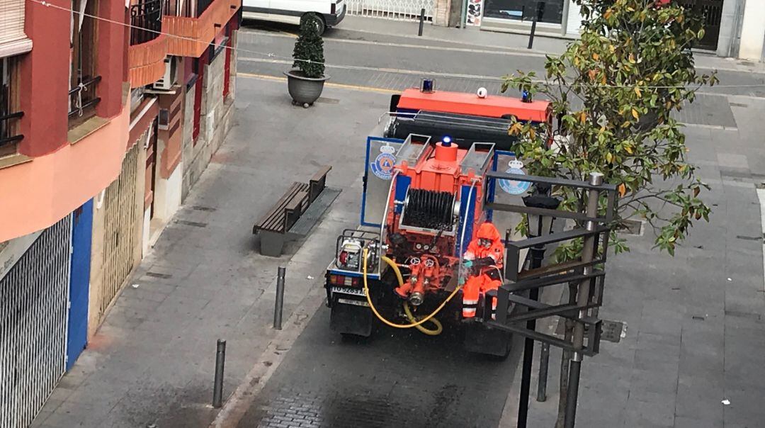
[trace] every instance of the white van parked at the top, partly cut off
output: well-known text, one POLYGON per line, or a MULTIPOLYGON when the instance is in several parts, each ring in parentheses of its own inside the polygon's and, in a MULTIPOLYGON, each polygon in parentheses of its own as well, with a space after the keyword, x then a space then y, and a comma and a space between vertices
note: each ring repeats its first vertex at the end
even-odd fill
POLYGON ((321 18, 319 34, 345 18, 343 0, 243 0, 243 18, 300 25, 301 16, 314 12, 321 18))

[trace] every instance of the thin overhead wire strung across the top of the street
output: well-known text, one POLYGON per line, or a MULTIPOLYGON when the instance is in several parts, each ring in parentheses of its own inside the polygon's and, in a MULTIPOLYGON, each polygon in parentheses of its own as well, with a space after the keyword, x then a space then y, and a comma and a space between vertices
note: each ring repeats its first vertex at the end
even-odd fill
MULTIPOLYGON (((167 33, 167 32, 164 32, 164 31, 159 31, 159 30, 152 30, 150 28, 143 28, 143 27, 140 27, 138 25, 132 25, 132 24, 130 24, 128 22, 115 21, 113 19, 103 18, 103 17, 97 16, 97 15, 91 15, 91 14, 88 14, 88 13, 86 13, 84 11, 74 10, 73 8, 67 8, 67 7, 63 7, 63 6, 59 6, 59 5, 54 5, 54 4, 52 4, 50 2, 47 2, 45 0, 28 0, 28 1, 32 2, 32 3, 37 3, 39 5, 43 5, 44 7, 47 7, 47 8, 55 8, 55 9, 58 9, 60 11, 68 11, 68 12, 73 13, 73 14, 82 15, 83 17, 92 18, 92 19, 95 19, 96 21, 103 21, 103 22, 106 22, 106 23, 109 23, 109 24, 112 24, 112 25, 120 25, 120 26, 125 27, 125 28, 135 28, 135 29, 138 29, 138 30, 141 30, 141 31, 146 31, 146 32, 151 33, 151 34, 164 35, 164 36, 167 36, 168 38, 175 38, 177 40, 193 41, 195 43, 199 43, 199 41, 197 39, 195 39, 195 38, 189 38, 189 37, 185 37, 185 36, 181 36, 181 35, 177 35, 177 34, 171 34, 171 33, 167 33)), ((279 58, 279 59, 282 59, 282 60, 289 60, 289 61, 293 61, 293 62, 305 62, 305 63, 308 63, 308 64, 324 64, 325 67, 339 67, 339 68, 347 68, 347 69, 350 69, 350 70, 360 68, 360 66, 353 66, 353 65, 350 65, 350 64, 331 64, 331 63, 327 63, 326 61, 321 62, 321 61, 303 60, 303 59, 299 59, 299 58, 287 57, 287 56, 284 56, 284 55, 275 54, 273 52, 252 51, 252 50, 249 50, 249 49, 245 49, 243 47, 233 47, 233 46, 225 46, 225 45, 223 45, 221 47, 223 47, 224 49, 230 49, 230 50, 236 51, 236 52, 245 52, 247 54, 259 55, 261 57, 266 57, 266 58, 279 58)), ((497 52, 500 52, 500 51, 497 51, 497 52)), ((386 68, 382 68, 382 67, 363 67, 362 69, 367 69, 367 68, 372 68, 373 70, 377 70, 377 71, 382 72, 382 73, 395 73, 395 71, 392 71, 392 70, 389 70, 389 69, 386 69, 386 68)), ((427 74, 427 72, 425 72, 425 74, 427 74)), ((462 79, 467 79, 467 80, 487 80, 485 77, 469 77, 469 76, 464 76, 464 77, 455 77, 455 78, 462 78, 462 79)), ((500 78, 500 77, 497 77, 496 79, 499 79, 500 81, 502 80, 502 78, 500 78)), ((532 83, 543 84, 545 86, 552 86, 552 87, 558 86, 555 83, 546 83, 546 82, 541 81, 541 80, 536 80, 536 81, 534 81, 532 83)), ((688 88, 688 86, 681 86, 681 85, 675 85, 675 86, 672 86, 672 85, 654 85, 654 86, 652 86, 652 85, 614 85, 614 84, 606 84, 606 85, 597 84, 597 85, 594 85, 594 84, 584 84, 584 83, 566 84, 566 85, 562 85, 562 86, 565 86, 565 87, 614 88, 614 89, 625 89, 625 90, 627 90, 627 89, 634 89, 634 88, 639 88, 641 90, 650 90, 650 89, 686 89, 686 88, 688 88)), ((715 85, 715 87, 718 87, 718 88, 758 88, 758 87, 765 87, 765 83, 715 85)))

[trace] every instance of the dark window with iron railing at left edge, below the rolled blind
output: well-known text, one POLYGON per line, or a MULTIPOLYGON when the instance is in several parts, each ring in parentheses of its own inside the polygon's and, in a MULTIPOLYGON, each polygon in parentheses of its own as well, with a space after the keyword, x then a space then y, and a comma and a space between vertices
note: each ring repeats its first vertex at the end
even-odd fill
POLYGON ((16 144, 24 138, 19 132, 19 118, 24 113, 15 109, 15 58, 0 58, 0 156, 16 152, 16 144))

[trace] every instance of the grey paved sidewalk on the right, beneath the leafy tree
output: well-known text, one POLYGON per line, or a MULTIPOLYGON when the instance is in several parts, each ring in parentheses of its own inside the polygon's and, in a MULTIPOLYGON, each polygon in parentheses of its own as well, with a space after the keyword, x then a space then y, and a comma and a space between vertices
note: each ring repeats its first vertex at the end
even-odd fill
MULTIPOLYGON (((765 100, 731 97, 737 131, 687 128, 690 161, 712 186, 710 224, 699 223, 675 257, 653 237, 610 258, 603 319, 627 323, 618 344, 582 364, 577 426, 754 428, 765 426, 765 289, 758 188, 765 180, 765 100), (729 404, 722 403, 729 400, 729 404)), ((548 398, 535 400, 529 426, 554 426, 560 350, 553 348, 548 398)), ((510 394, 503 428, 515 426, 510 394)))

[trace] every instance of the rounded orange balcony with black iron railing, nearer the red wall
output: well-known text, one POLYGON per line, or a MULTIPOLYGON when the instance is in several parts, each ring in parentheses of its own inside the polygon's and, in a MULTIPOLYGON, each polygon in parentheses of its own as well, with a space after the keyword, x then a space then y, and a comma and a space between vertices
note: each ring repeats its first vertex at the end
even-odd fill
POLYGON ((162 0, 130 5, 130 47, 128 67, 130 87, 143 87, 164 75, 168 39, 162 31, 162 0))

